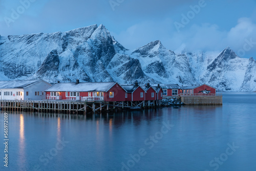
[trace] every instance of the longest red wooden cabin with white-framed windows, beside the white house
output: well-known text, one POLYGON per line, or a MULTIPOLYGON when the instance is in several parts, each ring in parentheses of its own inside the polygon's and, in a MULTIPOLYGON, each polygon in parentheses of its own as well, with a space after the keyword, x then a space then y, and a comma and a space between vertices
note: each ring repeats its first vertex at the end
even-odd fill
POLYGON ((49 100, 125 101, 126 91, 117 82, 55 83, 46 90, 49 100))

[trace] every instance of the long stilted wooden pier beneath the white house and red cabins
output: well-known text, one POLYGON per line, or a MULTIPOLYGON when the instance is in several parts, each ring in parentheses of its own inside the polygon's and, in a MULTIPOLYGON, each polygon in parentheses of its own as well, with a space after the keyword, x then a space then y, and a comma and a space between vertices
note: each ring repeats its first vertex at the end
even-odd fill
POLYGON ((53 112, 67 114, 101 113, 124 109, 149 109, 161 106, 161 100, 148 101, 63 101, 63 100, 0 100, 3 111, 53 112))

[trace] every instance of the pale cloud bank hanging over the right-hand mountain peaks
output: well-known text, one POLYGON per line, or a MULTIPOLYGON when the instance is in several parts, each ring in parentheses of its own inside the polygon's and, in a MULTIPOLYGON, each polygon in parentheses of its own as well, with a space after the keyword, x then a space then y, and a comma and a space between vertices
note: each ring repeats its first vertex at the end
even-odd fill
POLYGON ((221 51, 229 46, 238 53, 247 41, 252 40, 255 45, 241 57, 250 57, 256 52, 256 24, 250 18, 239 18, 237 25, 229 30, 223 30, 216 24, 205 23, 187 26, 187 29, 178 33, 172 23, 171 19, 143 22, 113 35, 117 41, 130 49, 159 39, 169 50, 182 47, 188 51, 221 51))

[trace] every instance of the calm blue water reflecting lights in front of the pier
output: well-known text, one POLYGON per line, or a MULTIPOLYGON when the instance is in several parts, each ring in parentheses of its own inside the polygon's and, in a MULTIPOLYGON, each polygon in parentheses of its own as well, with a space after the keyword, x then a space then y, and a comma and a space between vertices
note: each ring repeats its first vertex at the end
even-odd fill
POLYGON ((225 93, 214 107, 9 113, 9 163, 1 143, 0 170, 256 170, 255 111, 256 93, 225 93))

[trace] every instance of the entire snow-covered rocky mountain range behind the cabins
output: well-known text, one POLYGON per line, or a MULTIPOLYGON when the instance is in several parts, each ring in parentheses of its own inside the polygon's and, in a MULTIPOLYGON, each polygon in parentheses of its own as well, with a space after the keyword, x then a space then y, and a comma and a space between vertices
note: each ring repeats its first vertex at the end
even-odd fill
POLYGON ((256 61, 219 52, 167 50, 159 40, 127 50, 103 26, 0 36, 0 79, 207 83, 220 91, 256 91, 256 61))

